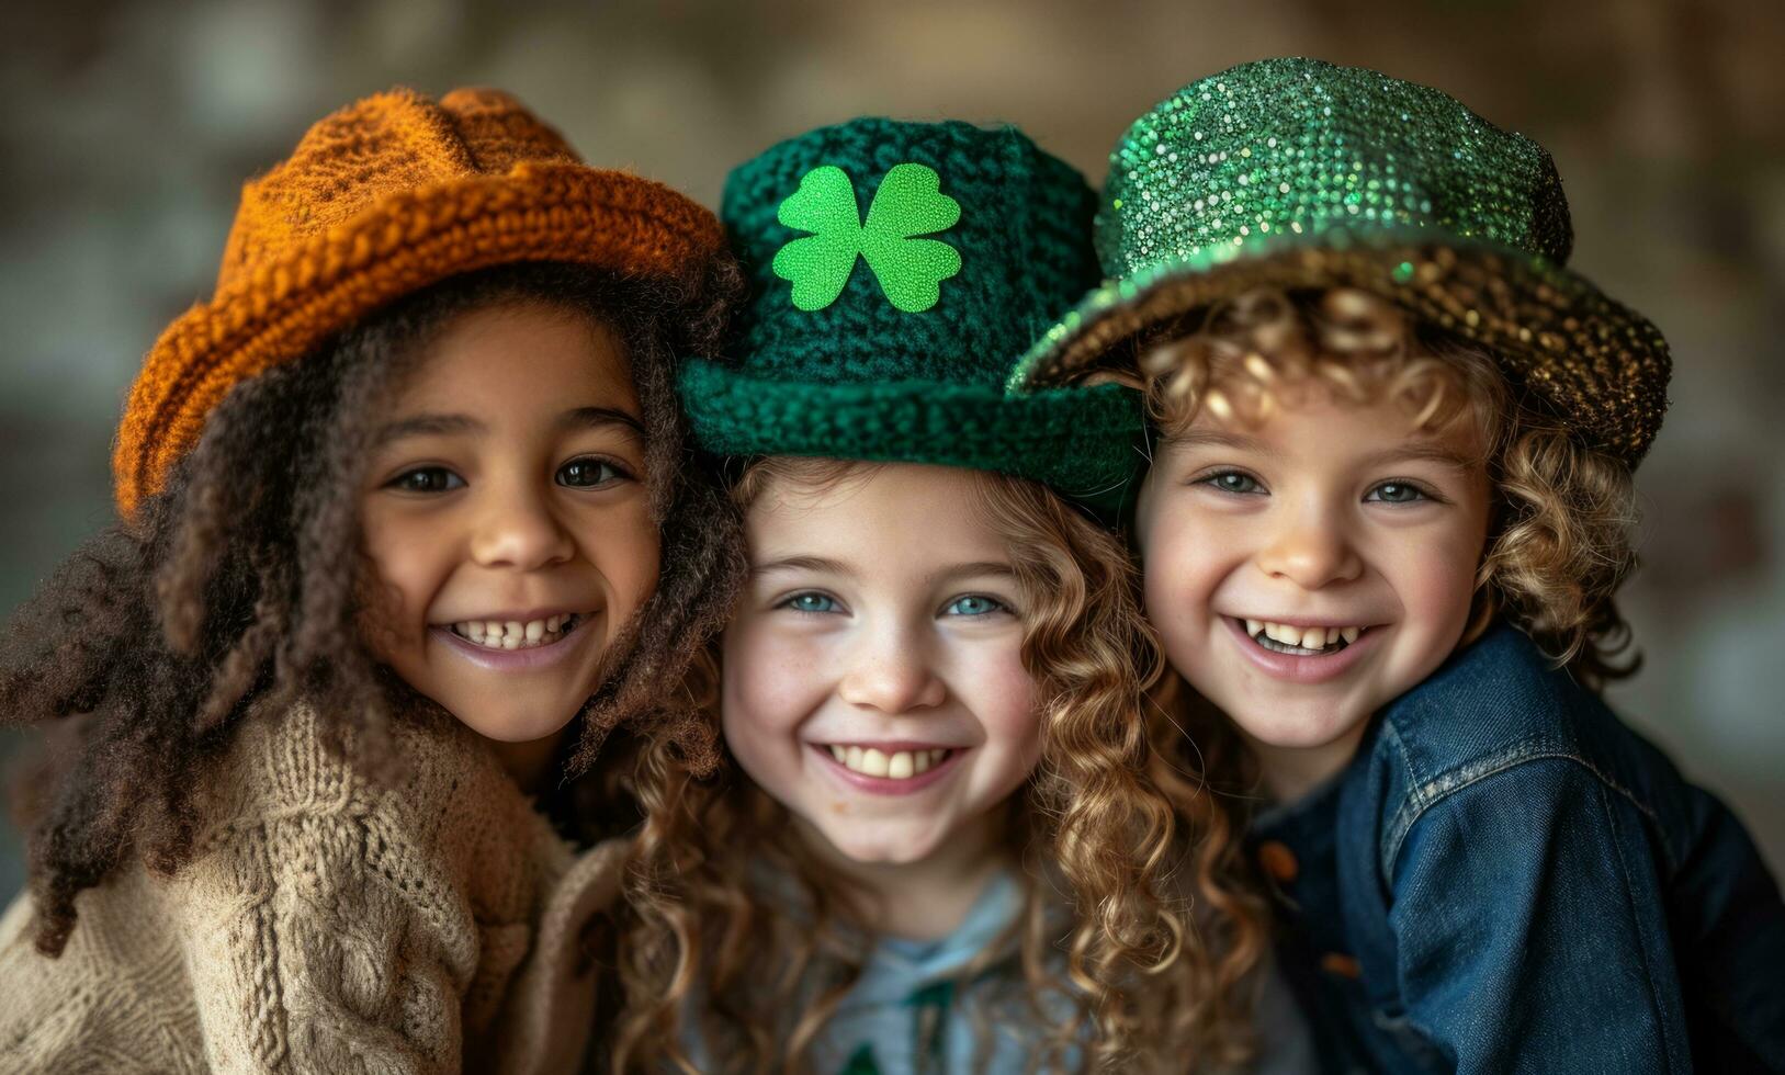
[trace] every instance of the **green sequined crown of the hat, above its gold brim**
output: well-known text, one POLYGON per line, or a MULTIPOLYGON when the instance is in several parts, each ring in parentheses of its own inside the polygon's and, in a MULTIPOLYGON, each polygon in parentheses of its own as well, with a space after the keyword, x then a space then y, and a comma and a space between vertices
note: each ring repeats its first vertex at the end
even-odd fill
POLYGON ((1557 262, 1571 229, 1549 154, 1455 98, 1362 68, 1278 59, 1180 89, 1110 154, 1108 277, 1251 236, 1440 227, 1557 262))

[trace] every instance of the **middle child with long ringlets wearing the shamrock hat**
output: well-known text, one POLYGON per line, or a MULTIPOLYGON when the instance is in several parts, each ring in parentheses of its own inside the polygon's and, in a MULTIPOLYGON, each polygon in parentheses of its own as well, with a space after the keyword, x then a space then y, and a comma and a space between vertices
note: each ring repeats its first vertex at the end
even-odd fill
POLYGON ((641 757, 612 1070, 1244 1055, 1257 907, 1151 746, 1175 732, 1142 709, 1158 655, 1121 539, 1067 500, 1119 496, 1139 398, 1003 393, 1094 279, 1091 205, 967 123, 855 120, 730 175, 755 296, 739 359, 691 362, 682 398, 744 512, 735 771, 641 757))

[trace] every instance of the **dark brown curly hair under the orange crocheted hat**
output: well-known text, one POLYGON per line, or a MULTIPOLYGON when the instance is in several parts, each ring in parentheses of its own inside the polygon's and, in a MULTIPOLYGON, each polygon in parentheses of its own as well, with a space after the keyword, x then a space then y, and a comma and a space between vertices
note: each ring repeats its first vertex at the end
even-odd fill
POLYGON ((648 430, 662 580, 566 736, 566 779, 587 771, 621 723, 666 736, 691 770, 710 768, 716 736, 678 682, 723 623, 743 545, 723 491, 684 448, 675 359, 716 350, 737 291, 730 259, 691 284, 509 264, 416 291, 237 386, 168 488, 89 539, 0 639, 0 714, 54 721, 52 750, 12 795, 29 830, 37 948, 59 954, 75 896, 130 855, 162 873, 189 859, 205 821, 198 777, 257 702, 312 704, 336 748, 355 721, 368 768, 400 770, 389 721, 421 700, 357 641, 355 491, 375 402, 475 307, 541 304, 614 327, 648 430))

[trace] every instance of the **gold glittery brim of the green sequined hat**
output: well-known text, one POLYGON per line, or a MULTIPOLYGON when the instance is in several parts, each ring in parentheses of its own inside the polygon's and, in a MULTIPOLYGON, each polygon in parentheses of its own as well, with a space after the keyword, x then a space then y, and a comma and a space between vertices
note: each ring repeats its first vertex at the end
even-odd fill
POLYGON ((1107 282, 1023 355, 1007 386, 1026 393, 1132 368, 1139 354, 1125 345, 1253 288, 1357 288, 1492 352, 1515 391, 1592 446, 1630 466, 1648 452, 1667 411, 1667 341, 1587 279, 1444 229, 1310 239, 1253 236, 1107 282))

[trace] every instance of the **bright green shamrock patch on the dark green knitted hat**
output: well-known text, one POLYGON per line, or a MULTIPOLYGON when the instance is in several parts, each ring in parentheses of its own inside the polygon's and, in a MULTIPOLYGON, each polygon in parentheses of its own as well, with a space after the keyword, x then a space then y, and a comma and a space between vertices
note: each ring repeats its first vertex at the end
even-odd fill
POLYGON ((960 252, 941 239, 919 239, 955 227, 960 202, 942 193, 942 177, 928 164, 894 164, 880 180, 860 221, 850 173, 819 164, 800 179, 775 216, 785 227, 812 232, 775 255, 775 275, 793 280, 793 304, 825 309, 843 295, 866 257, 887 302, 916 314, 942 296, 942 280, 960 271, 960 252))

